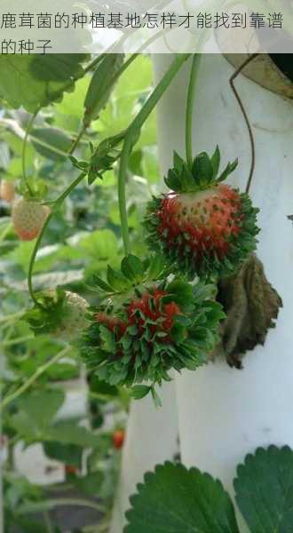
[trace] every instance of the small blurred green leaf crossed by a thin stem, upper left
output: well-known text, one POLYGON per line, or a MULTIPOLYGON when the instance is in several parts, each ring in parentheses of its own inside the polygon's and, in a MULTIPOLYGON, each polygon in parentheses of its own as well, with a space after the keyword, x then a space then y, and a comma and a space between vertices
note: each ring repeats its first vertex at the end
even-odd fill
MULTIPOLYGON (((59 130, 58 128, 34 128, 32 131, 33 137, 36 139, 43 140, 46 144, 50 145, 52 148, 57 148, 61 152, 67 153, 71 147, 71 139, 68 137, 64 131, 59 130)), ((60 155, 50 148, 44 147, 32 141, 36 151, 48 159, 53 161, 65 161, 66 155, 60 155)))

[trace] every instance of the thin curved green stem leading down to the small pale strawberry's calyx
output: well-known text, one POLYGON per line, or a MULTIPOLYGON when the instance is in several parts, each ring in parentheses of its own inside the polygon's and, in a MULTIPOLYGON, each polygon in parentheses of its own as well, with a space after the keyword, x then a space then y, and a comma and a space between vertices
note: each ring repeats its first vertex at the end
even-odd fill
POLYGON ((44 236, 44 232, 45 232, 46 228, 49 226, 55 211, 57 209, 59 209, 59 206, 61 205, 61 203, 64 202, 65 198, 68 195, 70 195, 71 191, 83 180, 84 176, 85 176, 85 172, 82 172, 65 189, 65 191, 63 191, 63 193, 61 195, 59 195, 59 197, 51 203, 52 204, 52 211, 48 215, 48 217, 45 219, 44 225, 43 225, 39 235, 37 236, 36 243, 35 243, 35 246, 34 246, 34 250, 32 251, 32 255, 31 255, 30 259, 29 259, 29 265, 28 265, 28 292, 29 292, 30 297, 32 298, 32 300, 35 302, 36 306, 42 307, 42 305, 40 304, 40 302, 36 298, 35 291, 34 291, 34 288, 33 288, 33 271, 34 271, 34 265, 35 265, 35 260, 36 260, 36 253, 37 253, 37 251, 38 251, 38 249, 40 247, 40 244, 42 242, 42 239, 43 239, 43 236, 44 236))

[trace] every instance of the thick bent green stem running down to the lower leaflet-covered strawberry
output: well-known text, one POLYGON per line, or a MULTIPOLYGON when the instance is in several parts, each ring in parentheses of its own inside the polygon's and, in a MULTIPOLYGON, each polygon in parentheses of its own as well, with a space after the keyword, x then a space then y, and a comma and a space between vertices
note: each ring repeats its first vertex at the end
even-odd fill
MULTIPOLYGON (((126 207, 126 192, 125 184, 127 179, 128 161, 131 155, 131 149, 139 138, 139 132, 143 124, 146 122, 148 116, 154 110, 158 101, 162 98, 163 93, 168 89, 171 81, 177 75, 178 70, 182 67, 183 63, 188 59, 190 54, 178 54, 175 60, 171 63, 170 68, 166 74, 162 77, 162 80, 155 87, 152 94, 147 99, 147 102, 141 107, 139 114, 135 117, 128 130, 126 131, 123 149, 120 158, 120 166, 118 173, 118 202, 121 220, 121 231, 123 235, 123 246, 125 255, 128 255, 131 251, 128 219, 127 219, 127 207, 126 207)), ((132 56, 131 56, 132 57, 132 56)))

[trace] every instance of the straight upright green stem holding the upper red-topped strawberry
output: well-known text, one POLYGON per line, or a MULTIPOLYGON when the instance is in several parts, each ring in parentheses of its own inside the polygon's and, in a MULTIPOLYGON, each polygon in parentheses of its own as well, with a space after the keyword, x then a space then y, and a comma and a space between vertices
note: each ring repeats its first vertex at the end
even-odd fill
POLYGON ((186 161, 189 167, 192 167, 193 158, 193 117, 194 117, 194 97, 198 69, 200 65, 201 54, 194 53, 193 62, 190 71, 189 85, 186 101, 186 161))

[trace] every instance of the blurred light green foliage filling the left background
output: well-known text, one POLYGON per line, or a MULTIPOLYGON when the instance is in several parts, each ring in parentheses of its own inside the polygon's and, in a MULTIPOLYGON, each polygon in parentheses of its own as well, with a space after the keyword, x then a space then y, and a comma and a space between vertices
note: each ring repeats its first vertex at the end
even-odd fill
MULTIPOLYGON (((91 71, 84 74, 81 66, 82 60, 88 58, 78 58, 80 63, 77 64, 76 59, 67 61, 62 68, 58 62, 51 63, 46 70, 42 69, 39 58, 0 59, 3 74, 0 82, 0 178, 11 181, 16 190, 23 172, 23 138, 31 118, 28 111, 35 112, 40 104, 44 107, 36 116, 28 137, 25 157, 28 179, 41 180, 48 187, 48 197, 53 199, 78 174, 67 152, 82 127, 91 71), (80 79, 74 84, 72 77, 80 79), (60 98, 64 89, 69 92, 60 98), (52 103, 55 99, 59 101, 52 103)), ((91 156, 89 141, 96 146, 125 129, 151 88, 151 63, 147 56, 140 55, 115 85, 107 107, 83 135, 75 156, 87 161, 91 156)), ((128 169, 127 208, 132 249, 139 257, 147 253, 140 220, 157 181, 153 114, 141 132, 128 169)), ((4 352, 4 402, 8 398, 3 409, 3 445, 8 445, 4 465, 6 529, 11 531, 18 524, 21 531, 33 531, 34 527, 38 530, 37 521, 41 516, 44 528, 59 531, 58 524, 47 523, 52 520, 49 512, 55 505, 50 502, 56 494, 31 485, 15 472, 14 449, 19 442, 26 447, 39 442, 48 457, 64 465, 75 465, 78 473, 71 476, 71 487, 83 497, 102 498, 106 505, 103 516, 107 520, 119 468, 119 451, 113 445, 113 433, 124 425, 128 398, 115 387, 88 378, 88 412, 77 420, 56 420, 66 399, 65 382, 82 379, 84 385, 84 371, 74 348, 47 335, 34 338, 28 325, 21 321, 22 312, 29 306, 27 274, 34 243, 18 240, 10 215, 11 204, 1 200, 0 348, 4 352), (64 351, 64 357, 59 358, 60 351, 62 354, 64 351), (56 362, 51 364, 55 356, 56 362), (26 388, 30 381, 31 385, 26 388), (23 394, 13 400, 13 394, 22 386, 23 394), (41 513, 37 520, 36 512, 41 513)), ((91 187, 84 180, 51 220, 36 258, 35 287, 62 286, 78 292, 91 303, 97 302, 97 294, 90 289, 92 274, 103 274, 107 263, 117 267, 122 256, 114 168, 91 187)))

